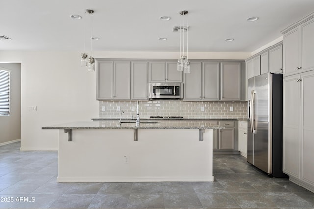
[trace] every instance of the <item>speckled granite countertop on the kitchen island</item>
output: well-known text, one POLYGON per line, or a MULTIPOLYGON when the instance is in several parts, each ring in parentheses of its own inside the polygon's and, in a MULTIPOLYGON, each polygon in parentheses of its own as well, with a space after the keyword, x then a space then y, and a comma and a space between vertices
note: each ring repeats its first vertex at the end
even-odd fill
MULTIPOLYGON (((126 121, 126 120, 124 120, 126 121)), ((129 120, 130 121, 130 120, 129 120)), ((145 120, 148 122, 147 120, 145 120)), ((136 127, 135 123, 122 123, 118 120, 110 121, 89 121, 71 122, 52 126, 42 127, 42 129, 224 129, 222 126, 212 125, 209 121, 199 120, 152 120, 154 123, 140 123, 136 127)))

